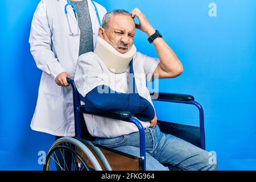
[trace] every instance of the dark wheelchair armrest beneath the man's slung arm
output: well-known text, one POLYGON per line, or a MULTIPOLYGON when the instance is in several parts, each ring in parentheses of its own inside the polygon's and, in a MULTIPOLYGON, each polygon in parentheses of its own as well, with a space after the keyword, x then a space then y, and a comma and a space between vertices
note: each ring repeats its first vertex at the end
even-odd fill
POLYGON ((118 119, 122 121, 129 121, 131 118, 131 113, 128 111, 112 110, 112 111, 107 111, 103 113, 92 113, 92 112, 86 111, 84 105, 79 107, 79 112, 85 113, 85 114, 98 115, 105 118, 118 119))

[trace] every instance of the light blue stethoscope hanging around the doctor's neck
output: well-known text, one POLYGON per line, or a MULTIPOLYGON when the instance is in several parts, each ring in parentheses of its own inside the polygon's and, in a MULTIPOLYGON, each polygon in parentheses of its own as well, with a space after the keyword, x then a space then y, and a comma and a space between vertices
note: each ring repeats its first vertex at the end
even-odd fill
MULTIPOLYGON (((87 0, 85 0, 85 1, 87 1, 87 0)), ((101 18, 100 18, 100 15, 98 14, 98 10, 97 10, 97 7, 96 7, 96 5, 95 5, 95 3, 92 1, 92 3, 93 3, 93 6, 94 6, 94 9, 95 9, 95 11, 96 11, 96 15, 97 15, 97 18, 98 18, 98 23, 100 24, 100 27, 101 27, 101 18)), ((77 20, 77 8, 76 8, 76 6, 75 5, 73 5, 73 3, 71 3, 69 0, 67 0, 67 5, 65 5, 65 15, 66 15, 66 17, 67 17, 67 20, 68 20, 68 27, 69 27, 69 35, 70 36, 78 36, 78 35, 80 35, 80 32, 79 32, 79 23, 78 23, 78 20, 77 20), (72 7, 72 9, 73 9, 73 11, 74 11, 74 13, 75 13, 75 16, 76 16, 76 24, 77 24, 77 32, 74 34, 73 32, 72 32, 72 30, 71 30, 71 26, 70 26, 70 23, 69 23, 69 19, 68 19, 68 10, 67 10, 67 7, 68 6, 71 6, 72 7)))

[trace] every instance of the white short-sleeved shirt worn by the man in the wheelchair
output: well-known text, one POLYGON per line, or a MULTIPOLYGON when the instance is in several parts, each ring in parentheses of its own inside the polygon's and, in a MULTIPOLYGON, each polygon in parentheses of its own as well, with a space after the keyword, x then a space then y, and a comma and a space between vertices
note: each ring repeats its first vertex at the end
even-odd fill
MULTIPOLYGON (((150 93, 146 88, 146 78, 147 81, 152 81, 152 74, 158 64, 159 59, 148 57, 140 52, 135 53, 133 58, 138 93, 151 104, 150 93)), ((116 92, 129 93, 129 72, 130 68, 127 68, 126 72, 121 74, 112 73, 95 53, 88 52, 79 57, 75 73, 75 84, 77 90, 83 97, 98 85, 107 85, 116 92)), ((133 123, 117 119, 104 118, 91 114, 84 114, 84 119, 88 131, 93 137, 114 138, 138 131, 137 126, 133 123)), ((150 127, 150 122, 140 122, 144 128, 150 127)))

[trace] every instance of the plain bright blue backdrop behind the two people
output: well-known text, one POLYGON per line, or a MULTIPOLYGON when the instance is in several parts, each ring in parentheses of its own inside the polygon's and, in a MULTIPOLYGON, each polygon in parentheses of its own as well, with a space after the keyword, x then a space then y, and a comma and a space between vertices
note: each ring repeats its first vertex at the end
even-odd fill
MULTIPOLYGON (((30 129, 41 71, 28 37, 39 1, 4 1, 1 9, 0 169, 41 170, 38 152, 53 137, 30 129)), ((108 10, 139 7, 162 32, 184 66, 183 75, 160 80, 161 92, 195 96, 205 110, 208 151, 220 170, 256 170, 256 1, 103 1, 108 10), (217 5, 209 17, 208 5, 217 5)), ((63 10, 64 11, 64 10, 63 10)), ((138 50, 156 56, 147 36, 137 31, 138 50)), ((155 102, 159 119, 198 125, 195 107, 155 102)))

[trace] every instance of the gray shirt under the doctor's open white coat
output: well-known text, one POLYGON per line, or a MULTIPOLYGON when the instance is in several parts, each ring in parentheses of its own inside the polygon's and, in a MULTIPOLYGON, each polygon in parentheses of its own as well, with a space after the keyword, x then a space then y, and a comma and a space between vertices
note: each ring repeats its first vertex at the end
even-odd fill
POLYGON ((71 1, 73 5, 76 6, 77 20, 80 28, 80 46, 79 46, 79 56, 87 53, 93 52, 93 30, 92 22, 90 20, 88 3, 86 0, 82 1, 71 1))

